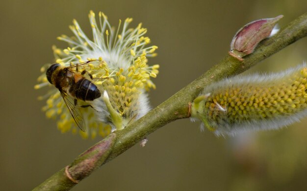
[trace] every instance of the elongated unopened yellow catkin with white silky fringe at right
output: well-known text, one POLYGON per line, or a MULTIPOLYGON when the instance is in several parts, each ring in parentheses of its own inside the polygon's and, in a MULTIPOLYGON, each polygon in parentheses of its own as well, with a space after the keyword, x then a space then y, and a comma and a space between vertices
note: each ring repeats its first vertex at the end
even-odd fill
POLYGON ((191 117, 216 135, 277 129, 307 116, 307 67, 213 83, 192 103, 191 117))

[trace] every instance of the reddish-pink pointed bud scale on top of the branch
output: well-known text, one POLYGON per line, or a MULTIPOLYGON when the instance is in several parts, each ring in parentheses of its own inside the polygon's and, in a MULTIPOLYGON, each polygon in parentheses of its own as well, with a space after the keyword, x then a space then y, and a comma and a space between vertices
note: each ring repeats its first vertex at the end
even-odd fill
POLYGON ((231 41, 230 55, 242 58, 251 54, 260 41, 277 33, 274 27, 282 17, 253 21, 240 28, 231 41))

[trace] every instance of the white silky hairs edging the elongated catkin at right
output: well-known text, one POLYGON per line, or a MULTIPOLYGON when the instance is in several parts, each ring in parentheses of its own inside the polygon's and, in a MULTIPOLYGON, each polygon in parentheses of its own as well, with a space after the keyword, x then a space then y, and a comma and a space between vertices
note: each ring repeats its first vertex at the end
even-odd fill
MULTIPOLYGON (((214 92, 220 91, 221 89, 225 89, 231 86, 256 86, 256 85, 266 85, 267 83, 276 83, 278 84, 283 78, 287 78, 292 74, 299 72, 301 69, 306 67, 306 63, 301 64, 297 67, 287 69, 278 73, 271 74, 254 74, 249 76, 235 76, 232 78, 227 78, 221 80, 217 83, 212 83, 204 88, 204 91, 200 95, 205 95, 207 93, 214 94, 214 92)), ((225 109, 225 108, 223 108, 225 109)), ((224 111, 224 110, 222 110, 224 111)), ((225 109, 227 112, 227 108, 225 109)), ((210 121, 210 125, 214 127, 214 134, 217 136, 225 136, 230 135, 234 136, 238 133, 246 132, 246 131, 258 131, 258 130, 271 130, 271 129, 279 129, 281 127, 285 127, 291 125, 295 122, 299 122, 300 119, 307 116, 307 108, 298 111, 296 113, 277 117, 271 117, 269 119, 261 119, 261 120, 250 120, 245 121, 241 124, 230 124, 227 120, 225 123, 217 124, 215 122, 210 121)), ((196 121, 197 118, 191 118, 191 121, 196 121)), ((204 123, 201 124, 201 131, 204 130, 204 123)))

